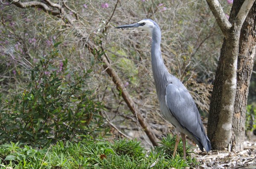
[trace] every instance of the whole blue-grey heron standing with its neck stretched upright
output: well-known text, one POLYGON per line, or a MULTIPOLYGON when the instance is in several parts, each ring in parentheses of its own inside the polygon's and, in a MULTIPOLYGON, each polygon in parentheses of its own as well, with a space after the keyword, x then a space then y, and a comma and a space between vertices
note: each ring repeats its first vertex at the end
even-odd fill
POLYGON ((184 134, 194 140, 201 151, 206 149, 208 152, 211 149, 210 141, 204 131, 195 101, 182 82, 170 74, 163 63, 160 50, 160 27, 153 20, 144 19, 138 23, 118 26, 116 28, 142 28, 152 36, 151 64, 160 110, 166 120, 177 129, 177 139, 173 155, 175 155, 179 142, 178 132, 181 132, 182 136, 184 158, 186 157, 184 134))

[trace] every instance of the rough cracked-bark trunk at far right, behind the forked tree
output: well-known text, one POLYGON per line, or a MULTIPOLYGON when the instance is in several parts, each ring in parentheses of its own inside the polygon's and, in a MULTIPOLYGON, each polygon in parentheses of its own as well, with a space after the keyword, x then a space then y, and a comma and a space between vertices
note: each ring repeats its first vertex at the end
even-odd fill
POLYGON ((244 149, 244 126, 250 78, 256 56, 256 3, 254 3, 241 29, 237 64, 236 99, 232 126, 232 150, 244 149))

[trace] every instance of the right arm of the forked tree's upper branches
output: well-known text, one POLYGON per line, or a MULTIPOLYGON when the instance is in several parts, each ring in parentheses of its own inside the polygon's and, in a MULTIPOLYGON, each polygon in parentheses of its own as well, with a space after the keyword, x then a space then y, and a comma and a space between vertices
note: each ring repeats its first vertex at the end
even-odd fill
POLYGON ((237 17, 235 19, 236 26, 239 28, 239 30, 241 29, 244 20, 247 17, 247 14, 252 8, 253 3, 255 3, 255 0, 245 0, 243 5, 241 6, 239 13, 237 14, 237 17))

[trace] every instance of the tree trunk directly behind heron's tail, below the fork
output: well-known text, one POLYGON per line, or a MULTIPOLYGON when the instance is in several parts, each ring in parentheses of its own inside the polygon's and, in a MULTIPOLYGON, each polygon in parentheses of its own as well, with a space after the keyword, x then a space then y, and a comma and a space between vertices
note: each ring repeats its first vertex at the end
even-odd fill
POLYGON ((236 98, 236 67, 238 57, 238 35, 224 39, 221 56, 215 75, 210 112, 208 135, 212 149, 228 147, 232 138, 232 119, 236 98))

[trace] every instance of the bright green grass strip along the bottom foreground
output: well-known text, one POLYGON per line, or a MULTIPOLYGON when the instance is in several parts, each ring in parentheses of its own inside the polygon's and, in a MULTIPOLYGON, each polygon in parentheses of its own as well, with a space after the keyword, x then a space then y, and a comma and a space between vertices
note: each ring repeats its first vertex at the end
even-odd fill
MULTIPOLYGON (((0 146, 0 168, 9 169, 182 169, 197 165, 187 146, 187 159, 178 148, 172 157, 175 137, 164 138, 161 145, 146 151, 140 141, 120 139, 113 142, 88 137, 79 143, 59 141, 42 149, 9 143, 0 146)), ((182 147, 180 142, 179 147, 182 147)))

